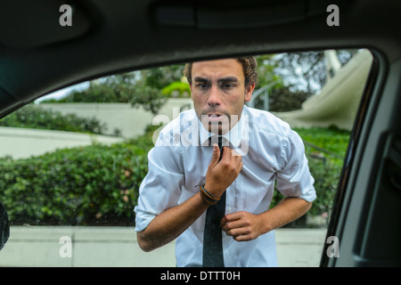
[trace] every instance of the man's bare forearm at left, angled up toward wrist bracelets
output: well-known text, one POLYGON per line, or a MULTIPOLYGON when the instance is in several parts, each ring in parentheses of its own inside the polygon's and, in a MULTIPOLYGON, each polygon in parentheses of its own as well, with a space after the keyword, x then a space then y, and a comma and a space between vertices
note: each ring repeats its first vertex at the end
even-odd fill
POLYGON ((209 207, 199 193, 156 216, 143 232, 137 232, 140 248, 151 251, 175 240, 209 207))

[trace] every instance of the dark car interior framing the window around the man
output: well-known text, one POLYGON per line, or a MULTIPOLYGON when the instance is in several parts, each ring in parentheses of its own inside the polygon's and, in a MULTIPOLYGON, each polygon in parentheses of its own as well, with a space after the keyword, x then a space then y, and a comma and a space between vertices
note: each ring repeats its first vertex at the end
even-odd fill
MULTIPOLYGON (((316 266, 399 266, 400 11, 401 2, 396 0, 2 1, 0 118, 45 95, 116 74, 243 55, 348 51, 353 54, 348 62, 352 70, 338 77, 327 94, 339 92, 349 78, 360 97, 352 101, 355 113, 348 129, 347 150, 316 266)), ((356 93, 339 96, 348 100, 356 93)), ((282 114, 282 118, 320 118, 317 110, 329 113, 351 104, 344 101, 339 105, 336 100, 308 101, 302 108, 311 117, 291 113, 282 114)), ((329 126, 323 119, 320 123, 329 126)), ((3 134, 0 140, 5 142, 3 134)), ((9 148, 13 147, 18 146, 11 143, 9 148)), ((126 171, 128 176, 143 169, 128 166, 126 171)), ((6 184, 0 181, 0 185, 6 184)), ((18 190, 12 189, 0 191, 18 190)), ((12 210, 2 195, 0 202, 0 266, 19 266, 1 258, 12 244, 12 216, 7 215, 12 210)), ((89 234, 85 231, 79 233, 84 239, 89 234)), ((60 248, 61 234, 57 230, 52 234, 60 248)), ((69 242, 64 241, 66 245, 69 242)), ((156 252, 152 257, 162 254, 156 252)))

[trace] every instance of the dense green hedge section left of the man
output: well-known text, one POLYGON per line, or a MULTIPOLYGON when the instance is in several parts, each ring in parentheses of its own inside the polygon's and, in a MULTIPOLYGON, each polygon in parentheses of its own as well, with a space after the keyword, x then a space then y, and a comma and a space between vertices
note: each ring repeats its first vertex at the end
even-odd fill
POLYGON ((0 159, 11 224, 132 224, 146 152, 125 142, 0 159))

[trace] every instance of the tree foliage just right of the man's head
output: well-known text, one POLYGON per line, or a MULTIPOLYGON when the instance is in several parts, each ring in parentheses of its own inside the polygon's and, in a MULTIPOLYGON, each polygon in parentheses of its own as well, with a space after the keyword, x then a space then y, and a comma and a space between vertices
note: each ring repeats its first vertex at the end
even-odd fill
MULTIPOLYGON (((346 64, 357 50, 339 50, 341 65, 346 64)), ((318 93, 325 84, 326 59, 323 51, 279 53, 257 57, 259 86, 277 82, 269 92, 269 110, 298 110, 303 102, 318 93)), ((263 109, 263 98, 255 107, 263 109)))

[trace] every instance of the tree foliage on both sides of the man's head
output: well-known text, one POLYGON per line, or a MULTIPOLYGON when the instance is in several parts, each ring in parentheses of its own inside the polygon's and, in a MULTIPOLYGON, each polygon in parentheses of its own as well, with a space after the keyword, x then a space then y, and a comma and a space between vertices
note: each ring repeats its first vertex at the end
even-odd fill
MULTIPOLYGON (((338 51, 340 63, 345 64, 356 52, 338 51)), ((269 110, 299 109, 326 81, 323 51, 258 55, 257 61, 257 89, 274 83, 269 110)), ((185 91, 181 83, 183 69, 184 65, 171 65, 103 77, 91 81, 86 90, 73 91, 59 102, 129 102, 156 115, 173 94, 172 89, 177 88, 181 94, 185 91)), ((263 109, 263 98, 255 106, 263 109)))

